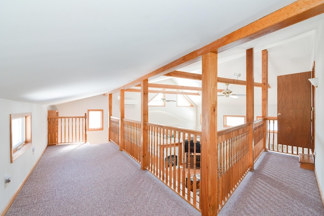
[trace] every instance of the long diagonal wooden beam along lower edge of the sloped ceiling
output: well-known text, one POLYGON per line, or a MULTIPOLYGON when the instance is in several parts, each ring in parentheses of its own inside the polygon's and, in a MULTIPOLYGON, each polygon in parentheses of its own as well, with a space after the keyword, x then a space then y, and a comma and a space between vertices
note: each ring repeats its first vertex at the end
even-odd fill
POLYGON ((255 38, 286 28, 322 13, 324 13, 324 1, 296 1, 109 93, 117 93, 120 89, 128 89, 139 84, 143 79, 158 77, 197 62, 201 59, 201 55, 203 54, 215 51, 220 53, 229 48, 244 44, 255 38))

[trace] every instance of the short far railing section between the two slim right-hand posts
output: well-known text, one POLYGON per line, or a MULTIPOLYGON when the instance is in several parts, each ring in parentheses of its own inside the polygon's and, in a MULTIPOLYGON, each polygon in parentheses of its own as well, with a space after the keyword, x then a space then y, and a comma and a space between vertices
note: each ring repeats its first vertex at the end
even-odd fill
POLYGON ((260 157, 262 152, 264 151, 264 119, 259 119, 254 121, 254 153, 253 160, 254 162, 260 157))

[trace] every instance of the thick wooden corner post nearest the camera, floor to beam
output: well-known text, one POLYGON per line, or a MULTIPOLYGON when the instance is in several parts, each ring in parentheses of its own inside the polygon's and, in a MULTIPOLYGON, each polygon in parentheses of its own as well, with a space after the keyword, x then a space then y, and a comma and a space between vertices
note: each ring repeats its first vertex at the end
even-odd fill
POLYGON ((201 191, 202 215, 217 215, 218 149, 217 149, 217 53, 202 56, 201 103, 201 191))

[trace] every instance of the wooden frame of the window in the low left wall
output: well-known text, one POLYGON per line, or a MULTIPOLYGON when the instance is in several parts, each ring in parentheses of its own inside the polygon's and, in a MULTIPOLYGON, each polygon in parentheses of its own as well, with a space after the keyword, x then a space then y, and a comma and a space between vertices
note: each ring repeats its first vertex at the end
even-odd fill
POLYGON ((10 162, 13 163, 20 155, 22 155, 28 147, 31 146, 31 112, 10 114, 10 162), (25 139, 18 146, 13 144, 13 123, 14 119, 25 118, 25 139))

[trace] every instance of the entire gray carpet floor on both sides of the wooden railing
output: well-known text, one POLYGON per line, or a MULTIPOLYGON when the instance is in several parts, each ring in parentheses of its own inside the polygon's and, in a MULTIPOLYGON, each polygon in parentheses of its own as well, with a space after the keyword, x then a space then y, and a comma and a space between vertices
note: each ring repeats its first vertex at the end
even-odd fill
MULTIPOLYGON (((49 146, 6 215, 201 215, 115 144, 49 146)), ((314 171, 264 152, 218 215, 324 215, 314 171)))

